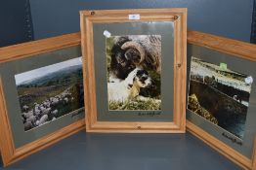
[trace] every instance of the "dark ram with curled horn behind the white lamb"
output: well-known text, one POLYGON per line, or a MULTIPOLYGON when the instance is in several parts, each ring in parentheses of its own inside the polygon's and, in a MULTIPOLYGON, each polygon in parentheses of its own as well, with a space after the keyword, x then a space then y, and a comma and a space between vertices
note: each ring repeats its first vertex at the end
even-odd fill
POLYGON ((159 35, 115 36, 110 53, 109 81, 124 80, 136 67, 161 72, 159 35))

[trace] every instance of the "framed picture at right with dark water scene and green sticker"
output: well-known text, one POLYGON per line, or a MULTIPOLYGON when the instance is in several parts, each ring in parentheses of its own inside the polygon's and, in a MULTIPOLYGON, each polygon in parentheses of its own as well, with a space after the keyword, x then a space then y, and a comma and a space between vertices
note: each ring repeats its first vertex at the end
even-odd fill
POLYGON ((188 33, 187 127, 245 169, 256 134, 256 46, 188 33))

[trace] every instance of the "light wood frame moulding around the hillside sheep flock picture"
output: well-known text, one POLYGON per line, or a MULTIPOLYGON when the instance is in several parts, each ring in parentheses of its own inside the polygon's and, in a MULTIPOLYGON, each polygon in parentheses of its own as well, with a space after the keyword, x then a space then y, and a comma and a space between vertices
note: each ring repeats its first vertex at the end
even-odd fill
MULTIPOLYGON (((58 51, 79 45, 80 33, 72 33, 64 36, 4 47, 0 48, 0 64, 40 53, 58 51)), ((6 108, 2 79, 0 77, 0 151, 4 166, 10 165, 29 154, 41 151, 65 137, 84 129, 84 123, 83 119, 75 121, 64 128, 28 143, 21 148, 16 148, 6 108)))

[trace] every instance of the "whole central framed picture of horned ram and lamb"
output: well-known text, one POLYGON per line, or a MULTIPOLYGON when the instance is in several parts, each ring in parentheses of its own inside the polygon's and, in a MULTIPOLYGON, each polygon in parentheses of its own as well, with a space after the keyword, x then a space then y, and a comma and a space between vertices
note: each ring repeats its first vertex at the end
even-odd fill
POLYGON ((88 132, 184 133, 187 9, 82 11, 88 132))

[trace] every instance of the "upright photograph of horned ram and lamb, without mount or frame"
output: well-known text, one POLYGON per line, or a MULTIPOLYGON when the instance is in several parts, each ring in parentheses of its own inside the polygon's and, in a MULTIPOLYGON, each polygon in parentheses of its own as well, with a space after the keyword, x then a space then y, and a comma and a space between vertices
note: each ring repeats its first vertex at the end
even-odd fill
POLYGON ((161 36, 106 40, 109 110, 161 110, 161 36))

